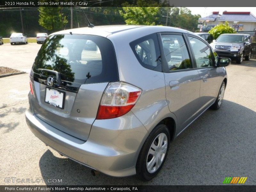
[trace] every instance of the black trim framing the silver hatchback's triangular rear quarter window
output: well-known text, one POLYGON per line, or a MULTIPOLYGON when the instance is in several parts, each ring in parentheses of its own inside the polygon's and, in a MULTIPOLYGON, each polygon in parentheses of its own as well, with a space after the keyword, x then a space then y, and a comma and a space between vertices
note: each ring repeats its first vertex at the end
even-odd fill
MULTIPOLYGON (((159 71, 159 70, 155 70, 154 68, 148 68, 148 67, 146 67, 146 66, 150 66, 150 65, 148 65, 148 64, 146 64, 146 63, 143 63, 143 62, 141 61, 141 59, 140 59, 138 53, 136 52, 136 50, 135 50, 135 48, 134 48, 135 45, 138 44, 138 42, 141 43, 141 42, 146 41, 146 40, 148 40, 148 39, 153 39, 154 43, 155 43, 155 40, 156 40, 156 45, 155 45, 156 53, 159 52, 159 55, 161 56, 161 59, 162 59, 162 55, 161 55, 161 51, 160 51, 160 44, 159 44, 159 39, 158 39, 158 37, 157 37, 157 33, 152 33, 152 34, 149 34, 149 35, 140 37, 140 38, 138 38, 138 39, 136 39, 136 40, 130 42, 129 45, 130 45, 130 47, 131 47, 131 49, 132 49, 132 52, 133 52, 134 56, 136 57, 136 59, 138 60, 138 62, 140 63, 141 67, 146 68, 146 69, 149 69, 149 70, 152 70, 152 71, 163 72, 163 61, 162 61, 162 60, 161 60, 161 61, 160 61, 160 60, 157 61, 157 66, 158 66, 158 65, 161 65, 161 66, 160 66, 160 67, 161 67, 161 70, 160 70, 160 71, 159 71), (158 48, 158 50, 157 50, 157 48, 158 48)), ((157 55, 157 54, 156 54, 156 55, 157 55)), ((156 57, 157 57, 157 56, 156 56, 156 57)), ((156 67, 157 67, 157 66, 156 66, 156 67)), ((156 67, 155 67, 155 68, 156 68, 156 67)))

